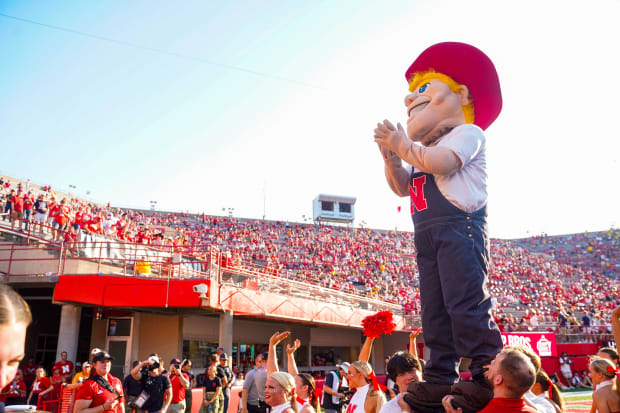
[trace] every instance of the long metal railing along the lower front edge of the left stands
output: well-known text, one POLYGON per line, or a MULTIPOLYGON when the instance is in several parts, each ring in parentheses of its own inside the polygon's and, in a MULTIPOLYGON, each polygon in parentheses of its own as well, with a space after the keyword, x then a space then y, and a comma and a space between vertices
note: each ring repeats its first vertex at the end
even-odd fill
POLYGON ((135 244, 87 232, 76 238, 93 241, 60 241, 60 235, 59 241, 54 241, 49 235, 52 228, 46 224, 37 230, 32 225, 27 230, 21 227, 21 231, 4 227, 0 229, 14 237, 11 242, 0 242, 0 274, 6 276, 105 274, 168 280, 217 277, 222 285, 237 288, 312 298, 356 309, 390 310, 410 320, 407 324, 419 325, 419 318, 404 314, 399 304, 298 281, 285 270, 276 272, 268 267, 233 263, 212 245, 194 246, 206 251, 196 257, 183 254, 179 247, 135 244))

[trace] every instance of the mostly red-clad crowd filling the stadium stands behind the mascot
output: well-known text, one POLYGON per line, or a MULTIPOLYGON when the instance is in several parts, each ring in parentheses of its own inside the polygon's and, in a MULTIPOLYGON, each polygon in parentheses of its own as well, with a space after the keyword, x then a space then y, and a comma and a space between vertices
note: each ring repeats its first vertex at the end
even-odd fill
MULTIPOLYGON (((51 188, 0 179, 3 219, 42 218, 71 241, 85 231, 126 242, 168 248, 205 260, 217 246, 226 266, 261 271, 344 292, 396 302, 419 314, 413 233, 326 224, 237 219, 189 213, 123 210, 74 198, 58 199, 51 188), (25 200, 28 201, 25 201, 25 200), (27 208, 34 212, 25 212, 27 208), (62 231, 65 230, 65 231, 62 231)), ((28 222, 17 223, 21 230, 28 222)), ((32 224, 31 224, 32 225, 32 224)), ((35 227, 36 231, 37 228, 35 227)), ((41 230, 41 228, 39 228, 41 230)), ((619 230, 568 236, 491 241, 489 292, 496 321, 505 331, 552 330, 607 334, 605 312, 618 303, 619 230)))

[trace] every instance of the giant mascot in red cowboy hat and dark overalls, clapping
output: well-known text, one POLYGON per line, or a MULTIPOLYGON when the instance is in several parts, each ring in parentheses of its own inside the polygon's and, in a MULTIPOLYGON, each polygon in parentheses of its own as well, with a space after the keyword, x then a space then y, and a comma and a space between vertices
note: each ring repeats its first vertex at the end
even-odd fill
POLYGON ((415 412, 453 406, 481 410, 493 397, 485 366, 502 348, 487 291, 487 172, 484 130, 499 115, 497 72, 479 49, 439 43, 405 74, 406 130, 385 120, 375 142, 390 188, 411 198, 425 346, 425 382, 405 401, 415 412), (406 165, 403 165, 404 161, 406 165), (460 359, 471 359, 471 381, 458 381, 460 359))

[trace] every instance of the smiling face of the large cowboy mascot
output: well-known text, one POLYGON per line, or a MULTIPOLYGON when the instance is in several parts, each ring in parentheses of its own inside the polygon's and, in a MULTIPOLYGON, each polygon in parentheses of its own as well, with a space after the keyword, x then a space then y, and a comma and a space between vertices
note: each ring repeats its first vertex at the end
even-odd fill
POLYGON ((462 105, 468 103, 468 90, 454 93, 438 79, 419 85, 405 96, 407 136, 424 146, 432 146, 449 129, 465 123, 462 105))

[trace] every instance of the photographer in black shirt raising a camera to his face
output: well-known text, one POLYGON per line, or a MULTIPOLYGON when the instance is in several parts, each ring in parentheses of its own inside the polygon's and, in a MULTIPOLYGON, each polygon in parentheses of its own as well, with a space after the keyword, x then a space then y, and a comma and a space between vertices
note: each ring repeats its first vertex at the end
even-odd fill
POLYGON ((142 385, 142 393, 135 406, 148 413, 166 413, 172 400, 170 379, 161 374, 162 367, 157 354, 151 354, 131 370, 131 376, 142 385), (164 400, 165 396, 165 400, 164 400))

